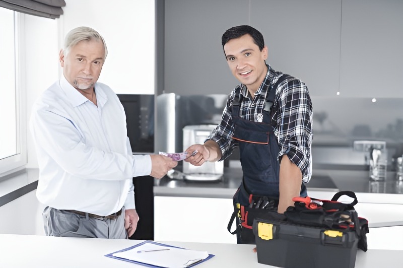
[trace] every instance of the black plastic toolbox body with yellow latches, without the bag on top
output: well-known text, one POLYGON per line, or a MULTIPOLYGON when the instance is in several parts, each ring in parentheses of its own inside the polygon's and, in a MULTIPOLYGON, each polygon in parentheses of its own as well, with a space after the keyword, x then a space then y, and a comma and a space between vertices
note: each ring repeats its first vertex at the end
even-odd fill
POLYGON ((255 219, 257 261, 286 268, 353 268, 355 231, 255 219))

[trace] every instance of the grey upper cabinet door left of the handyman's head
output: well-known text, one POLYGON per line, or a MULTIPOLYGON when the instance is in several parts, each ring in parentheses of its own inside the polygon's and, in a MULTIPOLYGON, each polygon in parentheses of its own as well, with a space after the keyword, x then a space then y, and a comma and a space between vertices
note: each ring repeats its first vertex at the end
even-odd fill
POLYGON ((249 1, 170 0, 164 5, 165 93, 228 95, 239 82, 228 68, 221 36, 248 24, 249 1))

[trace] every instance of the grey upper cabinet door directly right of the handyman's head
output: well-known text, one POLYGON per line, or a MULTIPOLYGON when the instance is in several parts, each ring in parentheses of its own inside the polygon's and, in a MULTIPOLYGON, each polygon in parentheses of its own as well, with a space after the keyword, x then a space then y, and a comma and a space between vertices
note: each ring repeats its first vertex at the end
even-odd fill
POLYGON ((274 70, 301 79, 311 96, 337 96, 341 11, 341 0, 253 0, 250 23, 274 70))

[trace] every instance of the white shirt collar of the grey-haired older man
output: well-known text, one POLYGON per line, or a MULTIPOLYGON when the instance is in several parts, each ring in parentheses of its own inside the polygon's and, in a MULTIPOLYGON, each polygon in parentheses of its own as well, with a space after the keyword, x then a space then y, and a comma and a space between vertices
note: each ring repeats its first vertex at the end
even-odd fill
MULTIPOLYGON (((64 92, 64 94, 66 94, 67 99, 70 101, 73 107, 80 106, 81 104, 90 101, 89 99, 84 97, 84 95, 81 94, 77 89, 75 89, 65 79, 64 75, 61 76, 59 84, 61 90, 64 92)), ((94 90, 97 97, 98 107, 102 108, 108 98, 106 97, 106 94, 103 92, 102 87, 98 83, 95 83, 94 90)))

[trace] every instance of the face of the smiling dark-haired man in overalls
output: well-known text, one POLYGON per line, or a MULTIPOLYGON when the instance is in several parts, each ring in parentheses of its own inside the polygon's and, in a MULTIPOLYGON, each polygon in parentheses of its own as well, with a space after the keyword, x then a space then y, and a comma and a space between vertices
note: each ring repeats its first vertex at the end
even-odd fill
POLYGON ((228 66, 236 79, 256 92, 267 73, 264 60, 267 47, 260 51, 249 34, 231 39, 224 45, 228 66))

